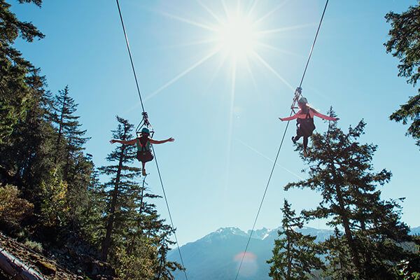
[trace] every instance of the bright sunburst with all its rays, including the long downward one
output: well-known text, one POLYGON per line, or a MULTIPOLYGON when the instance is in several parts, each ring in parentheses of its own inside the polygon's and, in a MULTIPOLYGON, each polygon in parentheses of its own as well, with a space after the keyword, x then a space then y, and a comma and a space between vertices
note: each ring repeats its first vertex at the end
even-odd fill
MULTIPOLYGON (((239 78, 239 71, 244 70, 249 77, 250 82, 253 84, 255 92, 258 91, 258 80, 255 78, 255 67, 264 69, 268 75, 272 75, 277 78, 281 85, 285 86, 290 90, 294 91, 294 87, 281 75, 281 71, 276 69, 276 65, 270 64, 273 60, 271 57, 266 57, 264 51, 272 51, 274 55, 278 56, 300 56, 291 50, 283 50, 276 45, 272 45, 267 38, 273 38, 274 36, 284 36, 287 32, 303 29, 314 26, 313 23, 300 23, 292 26, 273 26, 269 23, 273 17, 281 15, 282 8, 289 3, 290 0, 281 1, 276 3, 272 7, 264 6, 265 13, 261 13, 261 8, 258 6, 260 1, 258 0, 236 0, 236 1, 225 1, 216 0, 212 2, 204 3, 202 0, 196 0, 198 12, 202 13, 190 13, 190 16, 177 15, 176 12, 171 13, 165 11, 157 11, 160 15, 179 22, 181 27, 186 25, 191 27, 188 32, 194 30, 194 32, 188 33, 190 41, 181 41, 176 45, 166 45, 162 48, 191 48, 202 51, 203 48, 207 48, 202 57, 198 57, 195 61, 190 62, 190 65, 181 69, 179 73, 174 75, 174 78, 170 78, 166 82, 162 83, 157 90, 146 95, 146 100, 151 99, 158 94, 162 93, 167 87, 173 85, 181 78, 185 77, 191 71, 197 70, 204 63, 209 62, 211 59, 221 59, 220 62, 216 63, 213 70, 209 71, 210 83, 214 83, 214 79, 221 72, 221 69, 226 69, 225 73, 229 79, 229 90, 226 94, 230 95, 229 98, 229 116, 228 116, 228 144, 227 158, 226 158, 226 184, 228 184, 229 177, 229 166, 230 166, 230 153, 232 146, 232 130, 234 128, 234 108, 235 108, 235 97, 237 95, 237 83, 239 79, 243 79, 243 76, 239 78), (247 3, 248 6, 244 4, 247 3), (192 36, 195 34, 197 36, 192 36), (252 63, 251 63, 252 62, 252 63)), ((183 10, 185 15, 185 10, 183 10)), ((286 37, 286 36, 284 36, 286 37)), ((185 38, 185 37, 184 37, 185 38)), ((274 60, 275 61, 275 60, 274 60)), ((258 69, 258 70, 260 70, 258 69)), ((261 71, 258 71, 259 73, 261 71)), ((248 147, 250 148, 250 147, 248 147)), ((286 170, 290 172, 289 170, 286 170)), ((291 173, 291 172, 290 172, 291 173)), ((293 174, 297 176, 296 174, 293 174)))

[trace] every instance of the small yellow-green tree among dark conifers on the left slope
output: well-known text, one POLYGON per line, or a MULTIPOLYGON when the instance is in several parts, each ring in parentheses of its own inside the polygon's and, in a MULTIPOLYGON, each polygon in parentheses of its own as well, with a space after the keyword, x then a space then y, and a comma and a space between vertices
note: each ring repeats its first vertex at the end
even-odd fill
POLYGON ((52 169, 48 181, 41 183, 41 216, 48 227, 64 225, 69 208, 66 202, 67 183, 52 169))

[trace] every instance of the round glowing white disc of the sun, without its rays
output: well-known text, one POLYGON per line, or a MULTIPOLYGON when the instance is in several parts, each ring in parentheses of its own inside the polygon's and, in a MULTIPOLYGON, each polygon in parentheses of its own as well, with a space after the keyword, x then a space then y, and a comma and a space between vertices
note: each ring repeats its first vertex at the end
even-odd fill
POLYGON ((221 22, 216 29, 216 41, 225 55, 246 58, 257 44, 257 32, 249 18, 238 15, 221 22))

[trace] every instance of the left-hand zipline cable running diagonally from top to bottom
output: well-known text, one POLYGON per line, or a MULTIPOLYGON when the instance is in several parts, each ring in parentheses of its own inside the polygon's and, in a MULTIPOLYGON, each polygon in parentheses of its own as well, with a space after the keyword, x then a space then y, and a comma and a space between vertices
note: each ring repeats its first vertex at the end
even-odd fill
MULTIPOLYGON (((133 62, 132 53, 131 53, 131 50, 130 50, 130 43, 128 42, 127 32, 125 31, 123 14, 121 13, 121 8, 120 8, 119 1, 116 0, 116 2, 117 2, 117 6, 118 6, 118 13, 120 14, 121 25, 123 26, 123 31, 124 31, 124 36, 125 36, 125 43, 127 43, 128 55, 130 56, 130 62, 131 62, 132 70, 133 70, 133 73, 134 73, 134 80, 136 80, 137 92, 139 92, 141 109, 143 110, 143 115, 144 115, 146 113, 146 111, 144 110, 143 99, 141 99, 141 92, 140 92, 139 82, 137 80, 136 69, 134 68, 134 62, 133 62)), ((146 116, 147 116, 147 113, 146 113, 146 116)), ((159 165, 158 165, 158 160, 156 159, 155 148, 153 148, 153 146, 152 146, 152 151, 153 151, 153 156, 155 157, 156 167, 158 169, 160 186, 162 186, 162 191, 163 191, 163 197, 165 197, 165 203, 166 203, 168 214, 169 214, 169 220, 171 221, 172 229, 174 230, 174 237, 175 237, 175 241, 176 241, 176 246, 178 248, 179 257, 181 259, 181 265, 184 268, 183 272, 184 272, 184 275, 186 276, 186 280, 188 280, 188 276, 187 276, 187 273, 186 273, 185 265, 183 263, 183 258, 182 258, 182 254, 181 254, 181 248, 179 248, 178 238, 176 237, 176 232, 175 232, 175 227, 174 227, 174 221, 172 220, 171 210, 169 209, 169 203, 168 203, 167 195, 166 195, 166 192, 165 192, 165 186, 163 185, 162 175, 160 174, 160 168, 159 168, 159 165)))

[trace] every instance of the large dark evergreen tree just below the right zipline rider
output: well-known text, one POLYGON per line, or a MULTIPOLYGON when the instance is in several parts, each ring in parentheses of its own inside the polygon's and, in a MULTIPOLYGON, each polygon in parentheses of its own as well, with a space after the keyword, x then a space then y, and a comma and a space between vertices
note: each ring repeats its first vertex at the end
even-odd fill
POLYGON ((335 252, 337 245, 345 244, 342 248, 350 258, 334 260, 351 268, 347 270, 352 275, 345 279, 391 279, 395 277, 393 265, 409 257, 399 244, 410 237, 407 225, 400 221, 398 204, 380 198, 377 186, 387 183, 391 172, 373 172, 372 157, 377 146, 358 143, 364 128, 365 123, 360 121, 344 134, 332 124, 329 132, 314 134, 311 153, 304 158, 309 165, 309 179, 289 183, 285 188, 310 188, 321 193, 318 207, 304 211, 304 215, 328 219, 328 225, 344 230, 342 237, 325 242, 325 247, 329 255, 338 258, 344 251, 335 252))

